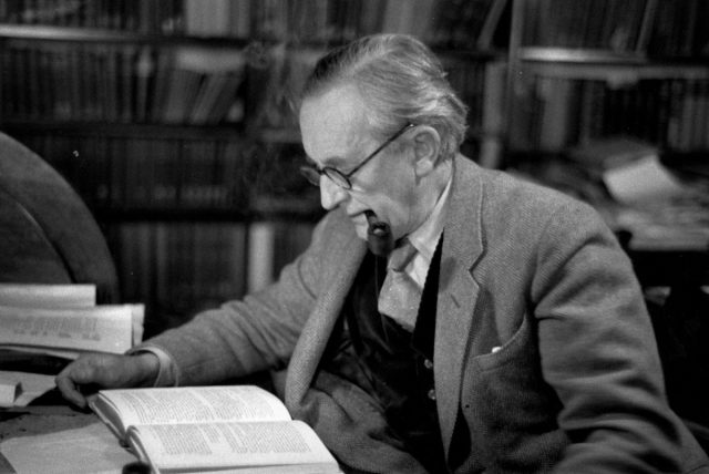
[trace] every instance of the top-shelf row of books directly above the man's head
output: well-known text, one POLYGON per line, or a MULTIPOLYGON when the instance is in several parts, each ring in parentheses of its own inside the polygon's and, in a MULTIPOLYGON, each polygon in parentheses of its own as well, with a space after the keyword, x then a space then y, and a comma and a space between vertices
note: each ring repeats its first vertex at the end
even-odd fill
POLYGON ((185 3, 184 31, 295 43, 409 33, 441 48, 489 50, 496 45, 495 33, 504 30, 507 4, 507 0, 213 0, 205 6, 193 0, 185 3))

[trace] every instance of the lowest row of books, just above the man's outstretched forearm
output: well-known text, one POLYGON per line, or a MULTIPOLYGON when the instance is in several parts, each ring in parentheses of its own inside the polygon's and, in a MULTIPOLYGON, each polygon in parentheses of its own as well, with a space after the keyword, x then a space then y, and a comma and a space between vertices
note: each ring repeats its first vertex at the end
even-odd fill
POLYGON ((110 226, 122 293, 144 301, 145 333, 270 284, 310 241, 311 223, 134 221, 110 226))

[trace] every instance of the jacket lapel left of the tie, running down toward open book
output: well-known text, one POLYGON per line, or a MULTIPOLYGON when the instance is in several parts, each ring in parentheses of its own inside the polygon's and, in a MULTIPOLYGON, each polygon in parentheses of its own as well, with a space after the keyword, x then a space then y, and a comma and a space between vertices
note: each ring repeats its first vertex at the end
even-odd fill
POLYGON ((288 367, 286 404, 291 410, 300 404, 310 387, 332 328, 342 309, 345 298, 352 286, 366 253, 366 243, 350 231, 349 238, 343 239, 342 245, 330 254, 332 261, 322 266, 328 274, 323 277, 323 281, 328 284, 322 289, 310 318, 302 328, 288 367))

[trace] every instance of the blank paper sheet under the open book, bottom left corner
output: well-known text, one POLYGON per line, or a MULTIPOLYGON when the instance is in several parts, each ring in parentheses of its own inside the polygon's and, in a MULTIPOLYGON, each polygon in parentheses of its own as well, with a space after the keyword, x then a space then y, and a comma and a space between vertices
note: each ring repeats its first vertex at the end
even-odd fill
POLYGON ((136 457, 121 447, 103 423, 39 436, 12 437, 0 452, 18 474, 120 474, 136 457))

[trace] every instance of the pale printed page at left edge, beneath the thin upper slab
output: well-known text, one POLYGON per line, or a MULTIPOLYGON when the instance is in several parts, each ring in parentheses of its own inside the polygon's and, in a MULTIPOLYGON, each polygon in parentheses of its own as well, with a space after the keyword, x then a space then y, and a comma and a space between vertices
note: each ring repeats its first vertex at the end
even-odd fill
POLYGON ((123 353, 132 347, 130 306, 14 308, 0 306, 0 344, 123 353))

